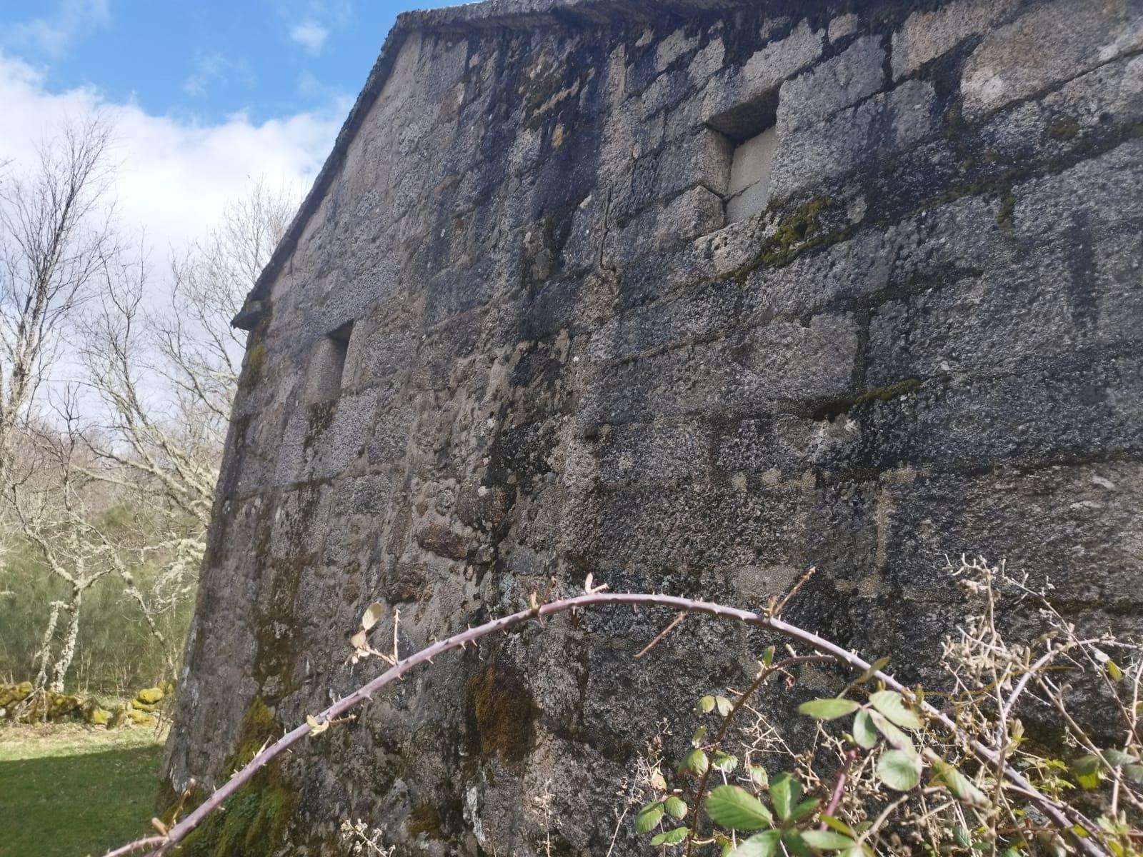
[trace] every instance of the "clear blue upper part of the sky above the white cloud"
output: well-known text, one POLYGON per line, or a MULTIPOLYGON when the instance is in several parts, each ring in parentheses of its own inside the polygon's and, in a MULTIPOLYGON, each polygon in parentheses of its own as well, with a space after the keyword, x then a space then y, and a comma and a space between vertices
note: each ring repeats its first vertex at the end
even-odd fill
POLYGON ((48 90, 202 122, 344 105, 399 11, 440 0, 0 0, 0 49, 48 90))

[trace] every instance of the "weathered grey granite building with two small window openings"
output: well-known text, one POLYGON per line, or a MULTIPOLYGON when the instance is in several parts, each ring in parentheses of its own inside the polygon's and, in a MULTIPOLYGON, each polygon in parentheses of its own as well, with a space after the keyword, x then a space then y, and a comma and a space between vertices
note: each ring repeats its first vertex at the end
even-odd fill
MULTIPOLYGON (((759 607, 813 566, 790 615, 924 679, 968 552, 1130 627, 1141 129, 1140 0, 401 16, 235 319, 168 784, 375 674, 374 600, 410 652, 588 571, 759 607)), ((250 841, 531 855, 546 783, 604 854, 656 722, 758 654, 694 619, 634 662, 665 618, 439 660, 257 780, 250 841)))

